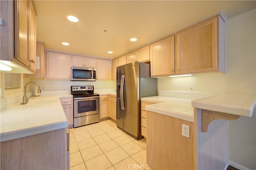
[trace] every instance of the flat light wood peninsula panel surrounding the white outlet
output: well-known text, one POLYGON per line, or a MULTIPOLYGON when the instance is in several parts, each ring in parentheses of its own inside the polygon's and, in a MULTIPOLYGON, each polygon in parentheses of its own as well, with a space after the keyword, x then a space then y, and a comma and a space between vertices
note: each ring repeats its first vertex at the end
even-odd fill
POLYGON ((182 136, 182 124, 194 129, 194 123, 147 111, 147 164, 152 169, 192 170, 194 132, 182 136))

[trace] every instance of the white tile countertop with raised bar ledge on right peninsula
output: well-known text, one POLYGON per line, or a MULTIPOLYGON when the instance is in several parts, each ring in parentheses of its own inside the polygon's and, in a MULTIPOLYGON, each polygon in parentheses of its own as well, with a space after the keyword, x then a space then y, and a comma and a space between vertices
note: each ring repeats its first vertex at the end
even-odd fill
POLYGON ((148 111, 194 122, 194 107, 233 115, 251 117, 256 106, 254 94, 218 94, 202 99, 184 99, 166 96, 141 98, 142 101, 154 102, 147 105, 148 111))

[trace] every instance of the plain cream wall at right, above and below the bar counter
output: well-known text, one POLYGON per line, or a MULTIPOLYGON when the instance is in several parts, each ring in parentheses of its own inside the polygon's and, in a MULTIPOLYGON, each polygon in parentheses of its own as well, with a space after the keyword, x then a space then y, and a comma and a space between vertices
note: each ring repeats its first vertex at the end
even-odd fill
MULTIPOLYGON (((226 22, 226 74, 158 78, 159 90, 256 93, 256 10, 226 22)), ((229 160, 256 169, 256 111, 253 117, 228 121, 229 160)), ((238 165, 238 166, 239 166, 238 165)), ((238 167, 241 168, 241 167, 238 167)))

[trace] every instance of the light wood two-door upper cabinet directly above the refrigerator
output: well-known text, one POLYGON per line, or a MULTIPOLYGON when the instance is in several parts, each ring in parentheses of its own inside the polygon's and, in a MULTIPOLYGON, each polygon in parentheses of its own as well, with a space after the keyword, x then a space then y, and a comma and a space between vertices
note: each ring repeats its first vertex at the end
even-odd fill
POLYGON ((126 55, 126 63, 150 61, 149 46, 142 47, 126 55))

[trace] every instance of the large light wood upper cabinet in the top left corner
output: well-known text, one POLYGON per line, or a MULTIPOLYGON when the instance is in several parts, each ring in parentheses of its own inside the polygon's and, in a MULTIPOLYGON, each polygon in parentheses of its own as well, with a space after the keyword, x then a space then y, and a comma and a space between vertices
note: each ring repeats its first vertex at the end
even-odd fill
POLYGON ((1 1, 0 16, 3 21, 0 28, 1 61, 16 65, 10 72, 34 73, 36 16, 31 0, 1 1))

